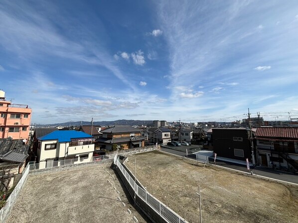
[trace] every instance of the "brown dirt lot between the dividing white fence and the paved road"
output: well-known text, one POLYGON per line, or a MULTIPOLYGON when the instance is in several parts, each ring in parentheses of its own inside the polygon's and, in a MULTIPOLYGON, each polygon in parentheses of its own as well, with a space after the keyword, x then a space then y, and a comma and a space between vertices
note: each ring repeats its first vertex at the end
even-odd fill
POLYGON ((158 151, 129 156, 127 166, 147 190, 190 223, 297 223, 298 187, 205 167, 158 151), (195 165, 193 165, 195 164, 195 165))

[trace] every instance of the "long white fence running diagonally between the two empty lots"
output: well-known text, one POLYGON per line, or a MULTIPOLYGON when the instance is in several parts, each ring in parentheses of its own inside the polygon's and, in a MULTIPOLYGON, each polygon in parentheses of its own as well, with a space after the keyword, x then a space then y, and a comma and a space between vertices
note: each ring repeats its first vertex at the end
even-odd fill
POLYGON ((161 203, 158 199, 154 198, 148 191, 141 188, 139 185, 135 185, 135 180, 130 176, 130 174, 126 171, 123 165, 117 158, 117 155, 114 157, 114 164, 118 166, 121 170, 130 186, 136 192, 136 196, 141 198, 149 207, 154 210, 160 217, 162 217, 167 223, 187 223, 182 217, 172 211, 170 208, 166 207, 163 203, 161 203))

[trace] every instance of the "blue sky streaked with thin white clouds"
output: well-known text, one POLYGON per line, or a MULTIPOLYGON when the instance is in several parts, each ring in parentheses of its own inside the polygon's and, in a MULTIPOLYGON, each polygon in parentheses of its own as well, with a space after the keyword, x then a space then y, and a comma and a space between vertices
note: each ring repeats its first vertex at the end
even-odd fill
POLYGON ((1 0, 0 77, 36 123, 287 120, 298 1, 1 0))

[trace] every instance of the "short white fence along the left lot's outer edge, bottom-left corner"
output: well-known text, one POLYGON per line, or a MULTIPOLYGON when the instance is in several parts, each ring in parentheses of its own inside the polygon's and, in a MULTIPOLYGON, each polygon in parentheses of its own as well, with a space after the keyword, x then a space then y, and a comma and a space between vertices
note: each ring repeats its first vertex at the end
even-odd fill
POLYGON ((13 207, 13 204, 14 204, 15 200, 17 199, 19 192, 22 190, 24 183, 27 180, 28 174, 29 174, 29 168, 26 168, 23 171, 23 176, 21 177, 21 179, 15 186, 15 188, 12 191, 12 193, 10 194, 10 196, 7 198, 5 206, 0 210, 0 215, 1 215, 0 222, 1 223, 6 221, 8 215, 13 207))

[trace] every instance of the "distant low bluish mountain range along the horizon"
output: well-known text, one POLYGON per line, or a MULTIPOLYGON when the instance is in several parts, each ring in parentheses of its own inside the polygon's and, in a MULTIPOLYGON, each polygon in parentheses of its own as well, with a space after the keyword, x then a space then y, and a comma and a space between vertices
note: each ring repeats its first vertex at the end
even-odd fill
MULTIPOLYGON (((45 127, 45 126, 80 126, 82 125, 91 125, 91 121, 68 121, 64 123, 54 123, 54 124, 36 124, 36 127, 45 127)), ((149 125, 153 126, 152 120, 115 120, 115 121, 93 121, 93 125, 109 126, 109 125, 149 125)))

